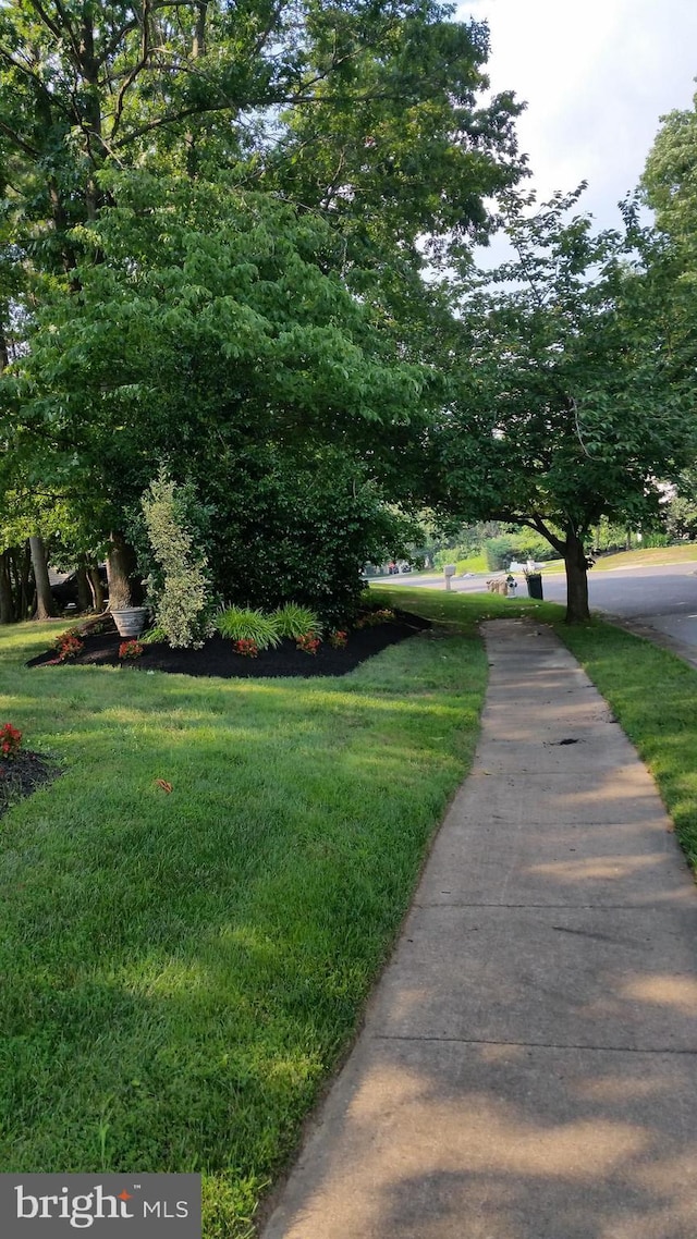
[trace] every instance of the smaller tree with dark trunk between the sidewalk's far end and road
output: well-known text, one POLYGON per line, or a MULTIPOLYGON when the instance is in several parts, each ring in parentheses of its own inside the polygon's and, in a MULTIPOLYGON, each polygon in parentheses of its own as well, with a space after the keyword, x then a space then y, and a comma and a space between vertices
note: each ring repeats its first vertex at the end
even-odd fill
MULTIPOLYGON (((583 187, 582 187, 583 188, 583 187)), ((515 259, 455 287, 451 396, 435 493, 466 519, 527 524, 563 556, 567 620, 588 618, 585 540, 603 515, 655 519, 696 445, 676 369, 664 250, 636 224, 594 234, 557 195, 510 199, 515 259)))

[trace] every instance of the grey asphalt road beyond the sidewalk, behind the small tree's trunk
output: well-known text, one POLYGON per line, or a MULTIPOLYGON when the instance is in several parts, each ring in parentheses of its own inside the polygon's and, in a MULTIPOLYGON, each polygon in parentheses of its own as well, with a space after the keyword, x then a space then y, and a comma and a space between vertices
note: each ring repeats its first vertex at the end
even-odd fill
MULTIPOLYGON (((487 576, 454 577, 458 593, 481 592, 487 576)), ((518 593, 525 595, 525 579, 517 576, 518 593)), ((382 577, 381 584, 444 589, 443 574, 382 577)), ((542 587, 548 602, 566 602, 567 581, 563 572, 542 574, 542 587)), ((618 616, 645 636, 657 634, 664 644, 697 660, 697 563, 666 564, 660 567, 615 567, 588 574, 588 596, 593 611, 618 616)))

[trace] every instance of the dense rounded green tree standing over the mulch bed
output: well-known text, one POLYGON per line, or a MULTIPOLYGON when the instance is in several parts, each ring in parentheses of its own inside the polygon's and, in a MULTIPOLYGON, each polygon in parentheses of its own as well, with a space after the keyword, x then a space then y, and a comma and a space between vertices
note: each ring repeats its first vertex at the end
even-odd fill
POLYGON ((108 192, 79 235, 79 296, 46 291, 5 378, 10 460, 104 536, 166 462, 215 513, 223 596, 308 597, 314 581, 325 613, 332 592, 346 610, 394 535, 397 477, 404 498, 414 486, 394 444, 423 427, 435 375, 396 359, 317 216, 186 177, 112 175, 108 192))

